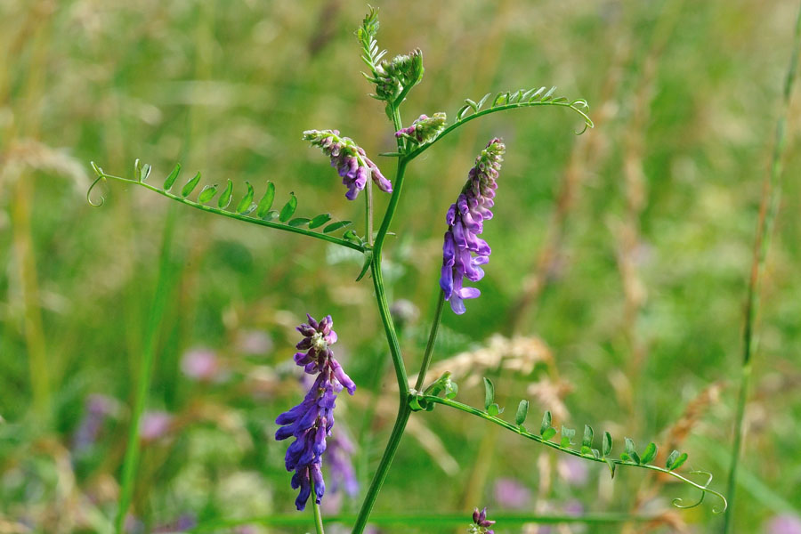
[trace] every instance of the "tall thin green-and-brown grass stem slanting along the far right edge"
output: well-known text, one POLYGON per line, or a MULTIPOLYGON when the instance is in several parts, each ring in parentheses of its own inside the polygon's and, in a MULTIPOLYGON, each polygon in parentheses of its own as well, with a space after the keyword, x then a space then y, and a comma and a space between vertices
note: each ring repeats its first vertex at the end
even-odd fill
POLYGON ((779 209, 779 199, 781 198, 781 155, 787 142, 786 126, 789 114, 790 96, 793 92, 793 85, 796 82, 796 72, 798 67, 798 57, 801 53, 801 8, 798 10, 796 18, 796 28, 793 40, 793 49, 790 54, 789 66, 784 79, 784 91, 782 93, 782 106, 779 118, 776 121, 776 131, 773 140, 773 157, 771 158, 771 170, 765 175, 763 183, 762 201, 759 206, 759 218, 756 223, 756 239, 754 241, 754 256, 751 263, 751 275, 748 280, 748 296, 746 299, 745 327, 742 334, 742 368, 740 370, 740 394, 737 401, 737 412, 734 419, 734 445, 732 448, 732 462, 729 466, 729 481, 727 493, 729 502, 732 506, 726 511, 723 531, 728 534, 732 531, 734 521, 734 496, 737 490, 737 466, 740 464, 740 450, 742 449, 743 425, 742 420, 745 415, 745 407, 748 403, 748 383, 750 382, 752 362, 751 358, 756 352, 758 340, 754 335, 756 313, 759 306, 759 282, 762 273, 765 271, 765 258, 770 247, 771 235, 773 233, 773 221, 779 209))

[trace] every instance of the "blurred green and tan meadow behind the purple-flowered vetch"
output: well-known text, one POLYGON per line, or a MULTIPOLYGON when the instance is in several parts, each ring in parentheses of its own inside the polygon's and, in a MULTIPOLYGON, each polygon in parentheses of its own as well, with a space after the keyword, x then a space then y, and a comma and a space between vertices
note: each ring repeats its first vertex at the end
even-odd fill
MULTIPOLYGON (((551 409, 559 423, 609 430, 618 442, 683 449, 687 465, 715 473, 724 490, 751 248, 797 2, 373 4, 390 55, 424 51, 405 123, 453 116, 465 97, 558 85, 587 99, 596 125, 577 137, 577 117, 562 109, 496 114, 409 169, 384 254, 392 301, 409 301, 409 368, 433 314, 445 210, 475 154, 502 136, 482 296, 462 317, 446 312, 435 361, 466 352, 445 367, 463 401, 480 404, 480 376, 493 376, 513 412, 527 397, 535 419, 551 409)), ((369 154, 393 149, 360 75, 353 30, 366 9, 337 0, 0 2, 0 532, 109 531, 168 219, 167 307, 131 531, 223 519, 248 526, 214 531, 312 529, 311 511, 303 525, 247 519, 294 514, 287 445, 272 434, 303 394, 291 355, 306 312, 333 315, 336 354, 359 384, 338 402, 337 428, 357 445, 363 492, 395 394, 372 287, 353 281, 359 259, 121 183, 102 188, 100 208, 85 193, 90 160, 130 175, 142 158, 157 182, 180 161, 185 175, 230 178, 240 191, 271 180, 278 199, 295 192, 301 215, 361 221, 360 203, 344 199, 301 133, 338 128, 369 154), (198 361, 204 373, 191 367, 198 361)), ((801 109, 792 102, 738 532, 797 532, 775 527, 801 503, 801 109)), ((374 159, 389 176, 392 160, 374 159)), ((386 198, 377 202, 383 209, 386 198)), ((490 517, 659 515, 550 530, 559 533, 720 528, 714 498, 676 510, 673 498, 695 494, 651 473, 620 469, 610 481, 603 465, 444 408, 412 422, 376 517, 490 506, 490 517)), ((328 514, 353 514, 360 499, 340 490, 325 502, 328 514)), ((459 531, 468 523, 465 513, 459 531)), ((500 522, 496 532, 521 530, 500 522)))

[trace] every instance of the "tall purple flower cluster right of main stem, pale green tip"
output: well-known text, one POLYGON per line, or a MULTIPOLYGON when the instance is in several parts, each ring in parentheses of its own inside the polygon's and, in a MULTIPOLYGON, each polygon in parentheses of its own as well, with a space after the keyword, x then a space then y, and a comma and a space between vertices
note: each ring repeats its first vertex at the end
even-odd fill
POLYGON ((463 279, 472 282, 482 279, 484 271, 480 266, 490 261, 490 246, 478 234, 484 230, 483 222, 492 218, 490 207, 495 204, 496 180, 504 152, 506 146, 500 139, 493 139, 481 150, 465 187, 445 215, 449 227, 442 246, 440 287, 450 308, 458 314, 465 312, 463 299, 481 295, 475 287, 463 287, 463 279))

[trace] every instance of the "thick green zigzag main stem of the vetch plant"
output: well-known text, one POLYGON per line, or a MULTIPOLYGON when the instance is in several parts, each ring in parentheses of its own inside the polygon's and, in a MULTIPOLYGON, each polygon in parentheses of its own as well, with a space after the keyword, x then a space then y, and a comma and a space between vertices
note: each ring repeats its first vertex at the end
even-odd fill
MULTIPOLYGON (((392 124, 395 131, 401 129, 401 114, 397 107, 392 108, 392 124)), ((402 140, 398 140, 398 150, 403 148, 402 140)), ((368 517, 373 509, 373 505, 378 498, 378 492, 384 485, 386 474, 389 473, 390 465, 392 465, 392 458, 395 457, 395 452, 398 450, 398 445, 401 443, 401 437, 406 430, 406 424, 409 421, 409 379, 406 376, 406 366, 403 363, 401 355, 401 344, 398 342, 398 334, 395 332, 395 325, 392 322, 392 316, 389 312, 389 304, 386 300, 386 290, 384 288, 384 273, 381 270, 381 252, 384 247, 384 239, 386 233, 389 231, 390 224, 392 223, 392 215, 398 208, 398 202, 401 198, 401 190, 403 189, 403 177, 406 172, 407 161, 405 158, 398 159, 398 169, 395 173, 395 182, 392 184, 392 197, 390 198, 389 205, 386 207, 384 220, 381 223, 381 228, 378 229, 376 235, 376 243, 373 246, 373 259, 370 263, 370 271, 373 275, 373 287, 376 289, 376 302, 378 303, 378 313, 381 315, 381 322, 384 324, 384 333, 386 335, 387 343, 389 344, 390 354, 392 355, 392 364, 395 368, 395 376, 398 380, 398 391, 400 393, 398 416, 395 418, 395 425, 392 427, 390 439, 384 449, 384 456, 381 457, 381 462, 378 464, 376 473, 373 475, 373 480, 370 482, 367 495, 361 503, 359 516, 353 525, 353 534, 361 534, 365 526, 367 526, 368 517)))

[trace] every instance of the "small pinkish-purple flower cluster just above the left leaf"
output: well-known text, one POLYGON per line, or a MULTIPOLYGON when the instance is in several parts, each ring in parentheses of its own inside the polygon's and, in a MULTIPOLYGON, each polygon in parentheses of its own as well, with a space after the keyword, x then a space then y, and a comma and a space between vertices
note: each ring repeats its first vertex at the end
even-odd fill
POLYGON ((378 189, 392 192, 392 182, 384 178, 378 166, 350 137, 340 136, 339 130, 306 130, 303 139, 312 142, 313 146, 319 147, 331 158, 331 166, 336 167, 342 183, 348 188, 345 193, 348 200, 355 200, 359 196, 368 178, 376 182, 378 189))

